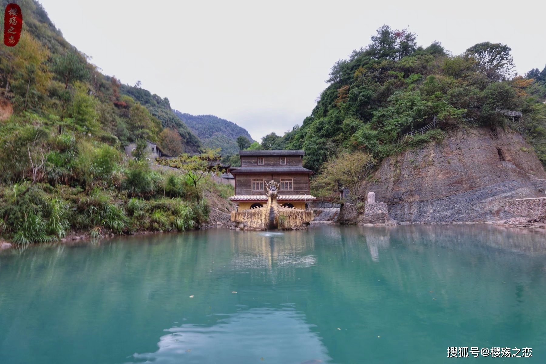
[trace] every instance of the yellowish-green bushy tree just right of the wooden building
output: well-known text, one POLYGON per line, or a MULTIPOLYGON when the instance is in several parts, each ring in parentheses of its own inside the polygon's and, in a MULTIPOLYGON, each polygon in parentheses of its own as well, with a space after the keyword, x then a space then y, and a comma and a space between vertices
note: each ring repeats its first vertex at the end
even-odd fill
POLYGON ((377 160, 364 152, 343 153, 323 165, 321 174, 312 181, 312 188, 331 194, 346 187, 351 201, 356 203, 366 177, 376 164, 377 160))

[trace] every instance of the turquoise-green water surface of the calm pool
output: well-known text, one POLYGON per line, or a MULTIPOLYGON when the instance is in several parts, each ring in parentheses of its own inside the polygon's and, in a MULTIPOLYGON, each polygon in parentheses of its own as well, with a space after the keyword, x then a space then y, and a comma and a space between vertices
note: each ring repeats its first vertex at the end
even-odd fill
POLYGON ((545 235, 489 225, 40 246, 0 254, 0 363, 543 363, 545 302, 545 235))

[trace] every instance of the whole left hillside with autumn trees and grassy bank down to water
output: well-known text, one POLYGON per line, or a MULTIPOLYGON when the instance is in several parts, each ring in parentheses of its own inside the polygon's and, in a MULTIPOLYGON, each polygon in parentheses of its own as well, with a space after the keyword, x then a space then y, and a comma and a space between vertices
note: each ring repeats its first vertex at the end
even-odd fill
POLYGON ((146 140, 171 154, 202 147, 169 100, 100 73, 39 3, 10 2, 24 21, 19 44, 0 47, 0 240, 183 231, 206 222, 210 201, 229 188, 151 170, 145 160, 146 140), (127 158, 130 142, 136 148, 127 158))

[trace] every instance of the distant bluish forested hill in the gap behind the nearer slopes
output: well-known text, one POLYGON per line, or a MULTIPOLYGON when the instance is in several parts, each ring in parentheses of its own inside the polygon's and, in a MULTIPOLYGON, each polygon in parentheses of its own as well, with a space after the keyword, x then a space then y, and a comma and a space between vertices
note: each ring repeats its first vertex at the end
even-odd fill
POLYGON ((197 134, 206 147, 221 148, 221 153, 224 156, 239 153, 237 138, 241 135, 251 143, 254 142, 247 130, 234 122, 213 115, 195 116, 178 110, 174 110, 174 113, 197 134))

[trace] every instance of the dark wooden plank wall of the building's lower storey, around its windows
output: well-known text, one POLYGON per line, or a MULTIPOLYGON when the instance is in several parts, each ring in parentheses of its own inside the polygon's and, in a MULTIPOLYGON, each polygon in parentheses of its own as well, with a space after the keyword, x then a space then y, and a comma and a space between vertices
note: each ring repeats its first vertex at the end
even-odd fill
MULTIPOLYGON (((288 161, 287 161, 288 163, 288 161)), ((290 195, 307 195, 309 194, 309 175, 308 174, 238 174, 235 175, 235 194, 236 195, 263 195, 263 191, 253 191, 252 190, 252 180, 264 180, 265 182, 270 182, 274 180, 281 184, 281 178, 292 178, 292 190, 284 191, 281 190, 281 193, 290 194, 290 195)))

